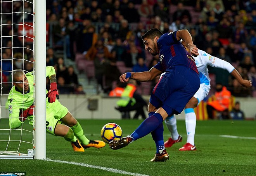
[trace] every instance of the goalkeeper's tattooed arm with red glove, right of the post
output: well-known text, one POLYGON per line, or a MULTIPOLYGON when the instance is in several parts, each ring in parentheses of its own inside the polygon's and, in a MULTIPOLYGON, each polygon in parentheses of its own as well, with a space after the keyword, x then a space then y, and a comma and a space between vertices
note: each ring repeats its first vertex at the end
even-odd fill
POLYGON ((57 90, 56 72, 53 66, 46 67, 46 76, 50 79, 50 90, 47 93, 48 102, 55 102, 56 98, 59 99, 59 93, 57 90))

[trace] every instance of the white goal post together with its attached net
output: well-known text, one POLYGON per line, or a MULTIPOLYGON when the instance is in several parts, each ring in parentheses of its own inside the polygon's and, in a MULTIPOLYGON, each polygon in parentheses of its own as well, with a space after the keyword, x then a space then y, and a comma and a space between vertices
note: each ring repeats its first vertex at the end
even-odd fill
MULTIPOLYGON (((46 2, 45 0, 2 0, 0 1, 1 12, 0 12, 0 32, 1 32, 1 92, 0 92, 0 159, 46 159, 46 2), (24 8, 24 4, 28 4, 30 7, 33 7, 33 12, 27 12, 24 8), (3 5, 4 4, 4 5, 3 5), (22 4, 22 7, 19 10, 14 10, 16 4, 22 4), (5 6, 5 7, 3 7, 5 6), (11 7, 11 12, 5 10, 6 7, 11 7), (26 23, 24 22, 24 16, 31 15, 33 16, 33 22, 26 23), (5 24, 5 17, 11 16, 11 24, 5 24), (19 22, 13 21, 14 16, 19 17, 19 22), (23 18, 23 20, 21 19, 23 18), (11 27, 11 36, 5 36, 2 32, 6 27, 11 27), (30 27, 30 32, 32 31, 32 37, 29 36, 28 30, 25 29, 25 26, 30 27), (19 31, 21 34, 16 34, 14 31, 15 28, 21 28, 19 31), (10 46, 5 46, 4 42, 9 40, 8 37, 12 37, 12 44, 10 46), (17 47, 14 43, 14 37, 19 38, 22 41, 23 47, 17 47), (28 48, 26 45, 26 40, 32 40, 33 48, 28 48), (5 59, 3 58, 3 52, 6 49, 11 49, 11 58, 5 59), (16 58, 14 57, 14 49, 23 50, 23 57, 16 58), (33 52, 33 61, 25 60, 25 50, 31 50, 33 52), (15 61, 23 62, 24 73, 28 73, 25 70, 25 62, 31 62, 34 66, 34 119, 33 127, 30 127, 30 131, 26 129, 26 125, 23 124, 19 127, 16 133, 13 132, 12 129, 8 129, 9 126, 9 115, 6 115, 8 105, 6 103, 7 97, 9 93, 2 93, 2 88, 4 85, 12 85, 13 79, 11 81, 3 81, 3 73, 12 72, 6 71, 6 68, 3 66, 3 62, 11 62, 12 69, 14 69, 15 61), (3 66, 3 67, 2 67, 3 66), (2 122, 2 123, 1 123, 2 122), (5 136, 4 136, 5 135, 5 136), (16 135, 16 136, 15 136, 16 135), (25 136, 24 136, 25 135, 25 136), (29 140, 27 140, 27 136, 29 136, 29 140), (2 136, 2 137, 1 137, 2 136), (30 137, 32 139, 30 139, 30 137), (19 140, 17 140, 19 139, 19 140), (10 147, 11 143, 16 142, 17 146, 10 147), (2 143, 2 144, 1 144, 2 143), (25 143, 25 147, 22 148, 22 144, 25 143), (4 146, 5 145, 5 146, 4 146), (21 152, 22 151, 22 152, 21 152), (26 151, 26 152, 24 152, 26 151)), ((10 21, 10 20, 9 20, 10 21)), ((12 78, 12 76, 10 76, 12 78)), ((32 84, 32 83, 31 83, 32 84)), ((9 86, 11 87, 11 86, 9 86)), ((12 108, 12 107, 11 107, 12 108)), ((10 111, 9 107, 9 111, 10 111)), ((28 121, 28 120, 27 120, 28 121)), ((28 122, 24 122, 24 124, 28 122)))

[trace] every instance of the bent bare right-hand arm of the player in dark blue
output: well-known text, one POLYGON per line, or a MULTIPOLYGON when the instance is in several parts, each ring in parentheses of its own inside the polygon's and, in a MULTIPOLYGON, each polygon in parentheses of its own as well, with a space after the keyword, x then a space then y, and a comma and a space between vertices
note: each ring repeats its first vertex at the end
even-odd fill
POLYGON ((180 41, 181 39, 187 43, 187 46, 189 47, 190 53, 192 56, 198 56, 198 48, 194 45, 192 36, 190 35, 189 31, 187 29, 178 30, 176 32, 176 39, 177 41, 180 41))

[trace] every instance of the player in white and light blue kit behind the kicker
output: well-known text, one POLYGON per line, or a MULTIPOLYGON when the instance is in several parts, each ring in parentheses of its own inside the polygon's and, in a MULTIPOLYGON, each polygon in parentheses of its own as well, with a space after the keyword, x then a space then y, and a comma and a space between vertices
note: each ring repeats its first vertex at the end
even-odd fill
MULTIPOLYGON (((187 48, 184 44, 183 46, 187 48)), ((250 80, 244 80, 239 72, 227 61, 224 61, 220 58, 216 58, 211 56, 205 51, 198 50, 199 56, 194 57, 197 69, 199 71, 200 77, 200 88, 195 93, 195 95, 189 100, 185 107, 185 123, 187 130, 187 143, 179 149, 179 151, 192 151, 195 150, 195 126, 196 126, 196 116, 194 112, 194 108, 208 96, 210 91, 210 78, 208 73, 207 66, 212 66, 216 68, 222 68, 227 70, 232 76, 234 76, 239 83, 244 87, 251 87, 252 83, 250 80)), ((178 134, 176 127, 176 118, 174 116, 168 117, 165 120, 165 123, 171 132, 171 137, 164 142, 165 147, 171 147, 173 144, 177 142, 182 142, 182 136, 178 134)))

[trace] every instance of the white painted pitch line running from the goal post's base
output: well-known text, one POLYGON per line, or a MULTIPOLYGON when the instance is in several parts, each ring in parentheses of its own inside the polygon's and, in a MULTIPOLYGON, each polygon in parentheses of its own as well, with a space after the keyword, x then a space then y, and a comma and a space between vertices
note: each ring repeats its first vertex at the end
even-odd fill
POLYGON ((85 164, 85 163, 81 163, 81 162, 69 162, 69 161, 60 161, 60 160, 52 160, 52 159, 45 159, 45 160, 52 161, 52 162, 64 163, 64 164, 74 164, 77 166, 83 166, 83 167, 87 167, 87 168, 101 169, 101 170, 109 171, 112 173, 127 174, 127 175, 134 175, 134 176, 149 176, 149 175, 138 174, 138 173, 130 173, 130 172, 122 171, 119 169, 105 168, 102 166, 94 166, 94 165, 85 164))

